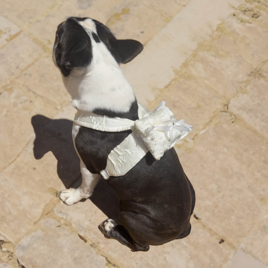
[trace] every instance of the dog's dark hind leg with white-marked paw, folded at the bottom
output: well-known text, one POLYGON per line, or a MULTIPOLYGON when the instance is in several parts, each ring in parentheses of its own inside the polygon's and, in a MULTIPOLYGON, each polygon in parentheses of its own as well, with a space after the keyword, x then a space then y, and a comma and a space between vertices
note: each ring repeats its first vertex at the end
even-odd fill
POLYGON ((150 246, 141 247, 137 245, 124 228, 123 225, 114 221, 113 219, 107 219, 99 225, 100 231, 106 238, 113 238, 119 241, 121 244, 129 247, 131 251, 148 251, 150 246))

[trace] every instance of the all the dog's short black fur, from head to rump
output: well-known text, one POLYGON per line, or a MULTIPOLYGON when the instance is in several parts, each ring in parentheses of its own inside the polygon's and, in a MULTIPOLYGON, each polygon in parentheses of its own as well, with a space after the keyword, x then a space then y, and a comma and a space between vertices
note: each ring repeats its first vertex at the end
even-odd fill
MULTIPOLYGON (((56 64, 64 76, 74 67, 87 66, 92 57, 91 41, 77 21, 85 18, 71 17, 60 24, 56 33, 56 64)), ((126 46, 98 21, 96 42, 103 42, 118 63, 126 63, 142 50, 140 43, 131 40, 126 46)), ((124 100, 122 100, 123 102, 124 100)), ((126 113, 95 109, 94 113, 108 117, 138 119, 137 101, 126 113)), ((80 127, 75 138, 76 149, 91 173, 106 167, 107 156, 131 131, 103 132, 80 127)), ((147 251, 149 245, 161 245, 181 239, 191 231, 189 222, 195 206, 195 192, 185 175, 174 148, 155 161, 148 152, 124 176, 110 177, 106 181, 120 199, 120 223, 108 232, 103 222, 99 229, 107 238, 114 238, 132 251, 147 251)))

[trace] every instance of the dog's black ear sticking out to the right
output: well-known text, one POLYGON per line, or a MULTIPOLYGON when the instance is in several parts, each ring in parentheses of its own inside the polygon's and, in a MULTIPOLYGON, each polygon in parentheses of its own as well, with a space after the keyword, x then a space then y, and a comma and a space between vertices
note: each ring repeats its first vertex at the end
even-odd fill
POLYGON ((111 46, 117 51, 120 63, 132 61, 143 50, 142 43, 132 39, 115 40, 111 46))

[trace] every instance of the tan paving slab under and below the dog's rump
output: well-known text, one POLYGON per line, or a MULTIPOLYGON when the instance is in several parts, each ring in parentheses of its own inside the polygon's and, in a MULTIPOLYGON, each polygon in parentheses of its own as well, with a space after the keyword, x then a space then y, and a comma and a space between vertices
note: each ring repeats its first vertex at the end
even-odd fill
MULTIPOLYGON (((101 188, 98 194, 102 195, 101 188)), ((111 202, 107 206, 113 209, 111 202)), ((235 252, 228 243, 219 244, 221 237, 211 233, 194 218, 191 219, 192 231, 187 238, 150 246, 148 252, 131 252, 118 241, 106 239, 99 231, 98 225, 107 216, 90 200, 73 206, 61 202, 55 206, 54 212, 70 222, 87 239, 87 243, 98 248, 118 267, 222 267, 235 252), (200 247, 204 250, 200 251, 200 247)))

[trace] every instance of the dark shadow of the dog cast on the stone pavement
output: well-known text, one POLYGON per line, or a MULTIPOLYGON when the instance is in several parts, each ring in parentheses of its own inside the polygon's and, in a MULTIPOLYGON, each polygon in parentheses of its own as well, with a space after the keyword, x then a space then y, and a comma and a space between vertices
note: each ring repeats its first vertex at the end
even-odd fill
MULTIPOLYGON (((57 173, 65 188, 77 188, 81 184, 80 160, 73 139, 73 122, 67 119, 50 119, 40 114, 32 117, 35 132, 33 155, 41 159, 51 151, 58 160, 57 173)), ((89 198, 108 218, 119 221, 119 200, 116 192, 100 178, 89 198)))

